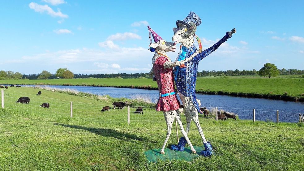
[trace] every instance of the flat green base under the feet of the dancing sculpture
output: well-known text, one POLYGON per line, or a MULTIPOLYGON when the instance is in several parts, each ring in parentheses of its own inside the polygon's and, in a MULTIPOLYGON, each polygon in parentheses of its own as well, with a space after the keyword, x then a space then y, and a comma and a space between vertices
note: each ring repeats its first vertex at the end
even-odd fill
POLYGON ((149 162, 156 163, 157 160, 185 160, 192 161, 195 158, 199 157, 199 153, 202 150, 205 150, 204 147, 194 146, 194 149, 197 154, 192 153, 190 147, 185 147, 183 152, 177 150, 170 150, 169 148, 165 148, 165 154, 161 154, 161 148, 153 148, 148 151, 145 151, 145 156, 149 162))

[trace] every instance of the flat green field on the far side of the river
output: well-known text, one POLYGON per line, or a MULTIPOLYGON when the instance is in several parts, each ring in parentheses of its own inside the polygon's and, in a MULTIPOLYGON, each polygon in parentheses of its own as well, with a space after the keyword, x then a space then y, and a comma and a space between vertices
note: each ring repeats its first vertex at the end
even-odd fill
MULTIPOLYGON (((249 96, 304 101, 304 78, 301 75, 198 77, 196 91, 208 94, 249 96)), ((152 79, 49 79, 0 80, 0 84, 83 85, 129 88, 157 88, 152 79)))

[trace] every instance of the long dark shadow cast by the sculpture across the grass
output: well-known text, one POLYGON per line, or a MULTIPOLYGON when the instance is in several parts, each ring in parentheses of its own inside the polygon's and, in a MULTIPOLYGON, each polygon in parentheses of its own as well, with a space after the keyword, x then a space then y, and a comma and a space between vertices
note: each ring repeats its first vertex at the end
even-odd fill
POLYGON ((118 131, 113 130, 113 129, 92 128, 92 127, 68 125, 68 124, 62 124, 62 123, 54 123, 54 125, 61 125, 61 126, 64 126, 64 127, 69 127, 69 128, 87 130, 87 131, 90 131, 90 132, 92 132, 96 135, 101 135, 101 136, 104 136, 104 137, 113 137, 113 138, 120 139, 120 140, 123 140, 123 141, 131 141, 131 142, 135 142, 135 140, 136 141, 149 141, 146 138, 140 138, 140 137, 137 137, 135 135, 118 132, 118 131))

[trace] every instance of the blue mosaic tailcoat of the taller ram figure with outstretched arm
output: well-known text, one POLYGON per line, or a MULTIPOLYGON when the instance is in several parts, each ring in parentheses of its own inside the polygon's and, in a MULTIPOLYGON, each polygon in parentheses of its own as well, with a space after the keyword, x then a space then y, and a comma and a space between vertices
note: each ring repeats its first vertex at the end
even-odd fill
MULTIPOLYGON (((199 61, 208 56, 210 53, 214 52, 222 43, 227 41, 230 37, 231 36, 229 35, 229 32, 227 32, 226 35, 212 47, 202 51, 190 61, 185 62, 185 65, 176 66, 174 68, 175 83, 178 92, 182 93, 186 97, 190 97, 199 113, 202 113, 202 111, 199 109, 199 104, 197 103, 195 96, 196 74, 199 61)), ((189 49, 185 46, 182 46, 178 61, 182 61, 186 58, 189 58, 196 51, 197 49, 194 44, 189 49)))

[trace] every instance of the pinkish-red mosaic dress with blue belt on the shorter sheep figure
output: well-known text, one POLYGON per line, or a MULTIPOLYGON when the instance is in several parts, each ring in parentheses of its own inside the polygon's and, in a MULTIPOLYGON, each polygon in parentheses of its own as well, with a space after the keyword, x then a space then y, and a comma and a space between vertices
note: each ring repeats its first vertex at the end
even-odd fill
MULTIPOLYGON (((161 56, 153 64, 153 71, 161 94, 174 92, 174 75, 173 69, 164 69, 164 63, 169 61, 168 58, 161 56)), ((157 111, 176 110, 180 106, 176 94, 160 97, 156 104, 157 111)))

